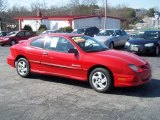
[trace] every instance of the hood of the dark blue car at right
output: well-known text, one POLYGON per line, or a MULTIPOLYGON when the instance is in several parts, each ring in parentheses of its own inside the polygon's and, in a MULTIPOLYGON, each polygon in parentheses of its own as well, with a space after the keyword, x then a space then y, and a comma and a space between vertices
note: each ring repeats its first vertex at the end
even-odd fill
POLYGON ((157 40, 145 40, 145 39, 137 38, 137 39, 130 39, 128 40, 128 42, 131 44, 141 45, 141 44, 147 44, 147 43, 156 43, 157 40))

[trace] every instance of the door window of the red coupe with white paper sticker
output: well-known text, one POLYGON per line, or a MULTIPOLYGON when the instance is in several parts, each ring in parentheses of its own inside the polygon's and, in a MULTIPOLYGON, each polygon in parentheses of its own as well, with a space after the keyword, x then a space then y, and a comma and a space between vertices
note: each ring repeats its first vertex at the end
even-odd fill
POLYGON ((63 37, 48 37, 46 39, 45 49, 68 52, 71 48, 74 48, 72 43, 63 37))

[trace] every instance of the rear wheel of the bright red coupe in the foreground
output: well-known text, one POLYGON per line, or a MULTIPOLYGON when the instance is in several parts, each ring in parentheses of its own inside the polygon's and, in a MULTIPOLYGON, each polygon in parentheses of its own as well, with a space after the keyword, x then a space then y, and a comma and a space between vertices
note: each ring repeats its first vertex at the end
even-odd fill
POLYGON ((24 78, 29 77, 30 65, 28 60, 25 58, 18 59, 18 61, 16 62, 16 70, 21 77, 24 77, 24 78))

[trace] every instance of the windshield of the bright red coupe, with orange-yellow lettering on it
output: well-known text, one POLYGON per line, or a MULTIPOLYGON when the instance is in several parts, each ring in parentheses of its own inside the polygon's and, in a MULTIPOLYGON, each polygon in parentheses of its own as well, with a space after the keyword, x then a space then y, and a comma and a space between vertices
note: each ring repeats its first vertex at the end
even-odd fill
POLYGON ((89 36, 74 36, 71 39, 85 52, 98 52, 108 49, 105 45, 89 36))

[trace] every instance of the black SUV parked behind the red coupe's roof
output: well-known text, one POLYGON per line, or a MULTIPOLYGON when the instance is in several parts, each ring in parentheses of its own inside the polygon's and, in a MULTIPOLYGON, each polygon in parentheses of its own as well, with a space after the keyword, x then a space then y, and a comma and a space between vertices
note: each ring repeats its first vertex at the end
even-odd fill
POLYGON ((79 29, 74 29, 72 33, 85 34, 93 37, 94 35, 99 33, 99 29, 97 27, 79 28, 79 29))

